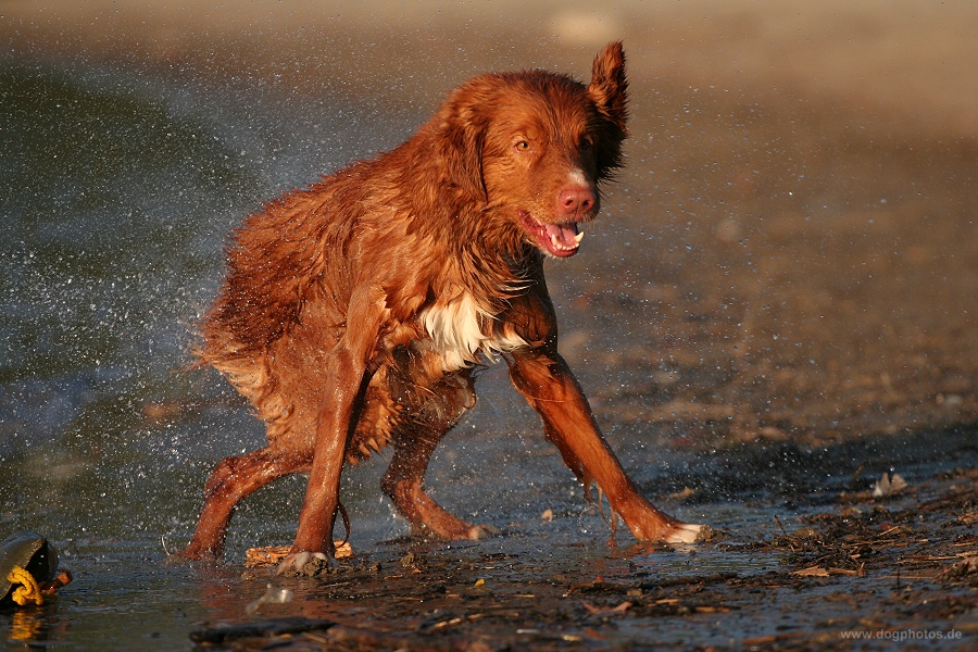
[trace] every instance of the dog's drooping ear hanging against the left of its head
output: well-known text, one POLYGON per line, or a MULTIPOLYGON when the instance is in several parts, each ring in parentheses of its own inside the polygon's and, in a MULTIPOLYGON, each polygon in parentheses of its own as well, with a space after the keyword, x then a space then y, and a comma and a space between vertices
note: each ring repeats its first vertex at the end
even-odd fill
POLYGON ((448 99, 435 117, 434 155, 442 159, 440 170, 448 181, 469 196, 488 199, 482 179, 482 149, 488 120, 474 101, 478 89, 463 86, 448 99))

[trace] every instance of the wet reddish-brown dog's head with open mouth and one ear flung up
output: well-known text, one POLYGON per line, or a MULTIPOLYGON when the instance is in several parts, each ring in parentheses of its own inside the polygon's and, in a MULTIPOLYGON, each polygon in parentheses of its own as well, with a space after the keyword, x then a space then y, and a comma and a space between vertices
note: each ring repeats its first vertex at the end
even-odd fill
POLYGON ((620 42, 599 52, 588 86, 543 71, 476 77, 431 122, 435 155, 446 183, 486 206, 482 227, 569 256, 622 165, 626 96, 620 42))

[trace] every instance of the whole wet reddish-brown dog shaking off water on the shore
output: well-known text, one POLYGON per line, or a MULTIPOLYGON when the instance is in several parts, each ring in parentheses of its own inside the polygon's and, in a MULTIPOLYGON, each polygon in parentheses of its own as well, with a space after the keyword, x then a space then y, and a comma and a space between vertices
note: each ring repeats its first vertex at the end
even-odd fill
POLYGON ((589 86, 547 72, 484 75, 399 148, 291 192, 249 217, 203 327, 200 359, 247 397, 268 446, 221 462, 181 554, 220 554, 235 504, 309 472, 280 569, 333 556, 344 462, 393 444, 383 489, 412 529, 474 539, 425 493, 438 441, 475 404, 473 371, 496 355, 585 484, 638 539, 688 542, 642 498, 557 353, 543 258, 577 252, 599 184, 620 165, 625 58, 610 43, 589 86))

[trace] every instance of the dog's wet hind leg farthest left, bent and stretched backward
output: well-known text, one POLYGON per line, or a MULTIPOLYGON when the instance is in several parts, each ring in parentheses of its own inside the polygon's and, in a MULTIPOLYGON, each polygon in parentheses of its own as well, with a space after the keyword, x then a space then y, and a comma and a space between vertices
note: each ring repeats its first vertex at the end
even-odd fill
POLYGON ((223 460, 204 486, 204 506, 193 537, 177 554, 188 559, 217 557, 224 549, 227 523, 238 502, 268 482, 309 468, 310 460, 276 455, 271 448, 223 460))

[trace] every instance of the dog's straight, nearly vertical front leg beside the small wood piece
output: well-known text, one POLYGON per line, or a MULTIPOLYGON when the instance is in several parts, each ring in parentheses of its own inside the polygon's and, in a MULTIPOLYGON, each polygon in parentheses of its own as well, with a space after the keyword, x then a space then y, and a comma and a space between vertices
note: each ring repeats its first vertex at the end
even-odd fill
POLYGON ((385 315, 384 303, 376 299, 376 292, 364 290, 354 292, 354 297, 359 299, 351 301, 347 330, 330 351, 324 369, 328 386, 319 409, 305 501, 299 513, 296 541, 279 564, 279 574, 302 573, 313 557, 335 563, 333 525, 339 506, 347 441, 363 410, 385 315))

